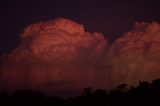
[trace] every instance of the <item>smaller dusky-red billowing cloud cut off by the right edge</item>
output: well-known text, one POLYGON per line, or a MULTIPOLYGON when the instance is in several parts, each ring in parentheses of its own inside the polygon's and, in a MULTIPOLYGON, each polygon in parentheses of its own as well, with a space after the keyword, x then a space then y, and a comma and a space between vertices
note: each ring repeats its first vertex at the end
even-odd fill
POLYGON ((160 78, 159 54, 160 24, 136 22, 133 29, 117 39, 110 49, 112 72, 119 73, 116 80, 123 77, 129 84, 160 78))

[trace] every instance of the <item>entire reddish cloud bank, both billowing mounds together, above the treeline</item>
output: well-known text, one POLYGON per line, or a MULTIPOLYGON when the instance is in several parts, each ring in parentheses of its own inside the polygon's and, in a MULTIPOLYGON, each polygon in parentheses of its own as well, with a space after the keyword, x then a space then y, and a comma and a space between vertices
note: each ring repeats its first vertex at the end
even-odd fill
POLYGON ((0 88, 78 91, 160 77, 160 24, 135 23, 109 46, 101 33, 55 19, 28 26, 21 44, 3 56, 0 88))

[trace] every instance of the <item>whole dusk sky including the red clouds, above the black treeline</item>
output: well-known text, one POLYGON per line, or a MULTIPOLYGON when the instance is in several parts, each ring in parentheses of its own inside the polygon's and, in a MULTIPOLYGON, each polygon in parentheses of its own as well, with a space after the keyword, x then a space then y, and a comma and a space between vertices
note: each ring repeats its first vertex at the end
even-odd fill
POLYGON ((1 0, 0 91, 67 96, 85 87, 110 90, 160 78, 159 5, 1 0))

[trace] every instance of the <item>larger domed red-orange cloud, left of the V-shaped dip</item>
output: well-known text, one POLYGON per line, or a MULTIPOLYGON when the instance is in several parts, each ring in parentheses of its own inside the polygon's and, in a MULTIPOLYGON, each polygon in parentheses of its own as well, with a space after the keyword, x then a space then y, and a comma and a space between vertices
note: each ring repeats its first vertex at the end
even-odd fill
POLYGON ((20 37, 21 45, 1 71, 3 89, 75 90, 100 84, 97 73, 108 48, 102 34, 60 18, 32 24, 20 37))

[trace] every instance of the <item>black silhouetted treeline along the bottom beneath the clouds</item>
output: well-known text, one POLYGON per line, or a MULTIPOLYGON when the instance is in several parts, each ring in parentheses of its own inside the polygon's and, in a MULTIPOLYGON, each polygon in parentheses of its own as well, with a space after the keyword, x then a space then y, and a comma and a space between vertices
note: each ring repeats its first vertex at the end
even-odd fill
POLYGON ((81 96, 69 99, 47 97, 33 90, 0 93, 0 106, 160 106, 160 79, 139 82, 137 87, 121 84, 110 92, 85 88, 81 96))

